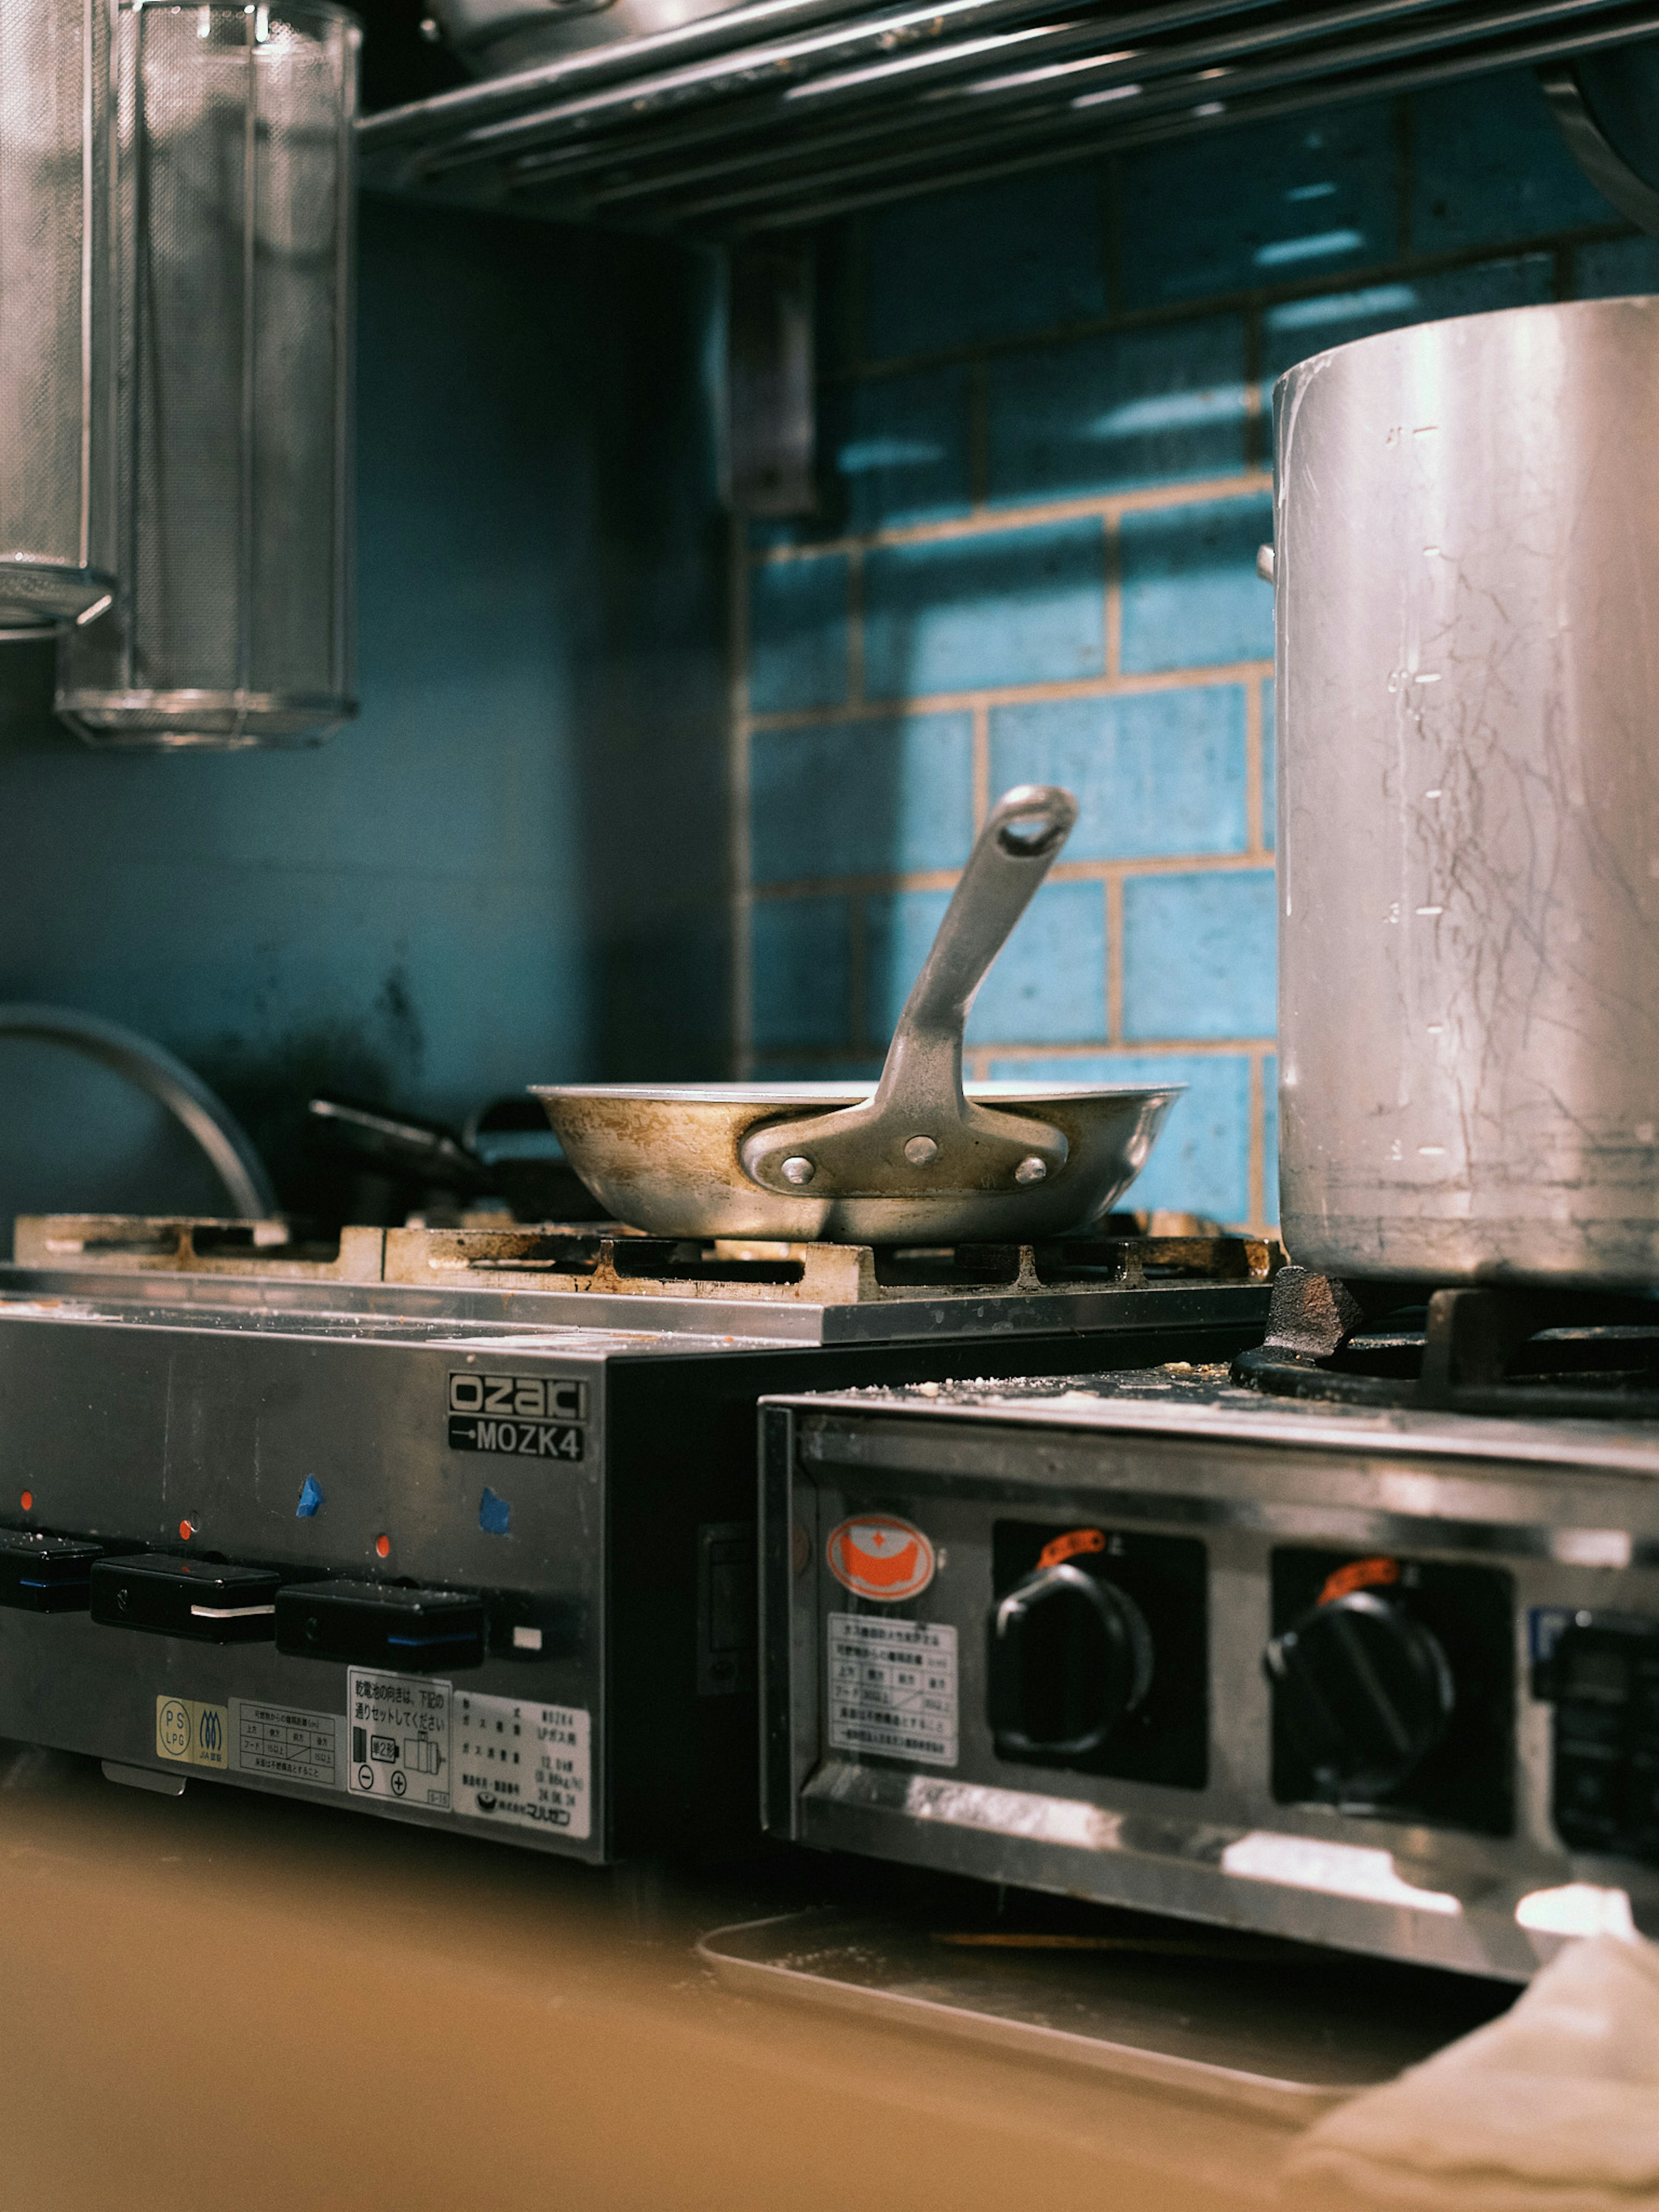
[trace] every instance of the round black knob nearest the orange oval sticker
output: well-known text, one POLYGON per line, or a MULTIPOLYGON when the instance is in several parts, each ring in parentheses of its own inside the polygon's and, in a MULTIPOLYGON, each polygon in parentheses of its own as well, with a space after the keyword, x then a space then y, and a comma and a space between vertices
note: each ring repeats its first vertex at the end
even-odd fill
POLYGON ((1084 1759, 1146 1697, 1152 1637, 1115 1584, 1044 1566, 991 1619, 991 1725, 1015 1759, 1084 1759))

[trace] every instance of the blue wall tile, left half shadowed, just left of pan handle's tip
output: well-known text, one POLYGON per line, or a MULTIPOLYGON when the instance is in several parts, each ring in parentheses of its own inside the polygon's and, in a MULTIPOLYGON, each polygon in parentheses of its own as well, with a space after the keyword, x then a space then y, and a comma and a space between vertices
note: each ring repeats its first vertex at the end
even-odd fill
POLYGON ((973 717, 757 730, 750 821, 754 883, 960 867, 973 843, 973 717))

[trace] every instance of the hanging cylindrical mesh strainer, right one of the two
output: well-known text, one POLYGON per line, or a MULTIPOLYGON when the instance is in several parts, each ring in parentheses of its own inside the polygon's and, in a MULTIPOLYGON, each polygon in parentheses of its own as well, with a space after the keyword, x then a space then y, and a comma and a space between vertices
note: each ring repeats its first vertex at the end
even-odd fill
POLYGON ((58 670, 88 743, 312 745, 354 712, 356 49, 312 0, 117 7, 119 588, 58 670))

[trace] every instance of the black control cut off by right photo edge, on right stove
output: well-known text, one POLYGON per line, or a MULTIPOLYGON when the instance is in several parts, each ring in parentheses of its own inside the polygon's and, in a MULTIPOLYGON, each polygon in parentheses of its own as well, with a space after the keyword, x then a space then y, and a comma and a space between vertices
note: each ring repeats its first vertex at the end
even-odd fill
POLYGON ((1548 1674, 1557 1836, 1659 1865, 1659 1621, 1579 1613, 1548 1674))

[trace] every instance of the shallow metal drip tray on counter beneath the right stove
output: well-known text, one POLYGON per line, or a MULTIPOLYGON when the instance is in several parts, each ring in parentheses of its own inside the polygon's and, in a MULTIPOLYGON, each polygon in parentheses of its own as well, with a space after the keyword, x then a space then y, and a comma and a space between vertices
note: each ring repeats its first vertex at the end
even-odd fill
POLYGON ((1504 2013, 1509 1984, 1141 1913, 971 1924, 845 1907, 745 1920, 699 1955, 748 1995, 1312 2121, 1504 2013))

